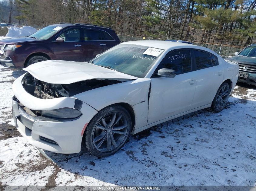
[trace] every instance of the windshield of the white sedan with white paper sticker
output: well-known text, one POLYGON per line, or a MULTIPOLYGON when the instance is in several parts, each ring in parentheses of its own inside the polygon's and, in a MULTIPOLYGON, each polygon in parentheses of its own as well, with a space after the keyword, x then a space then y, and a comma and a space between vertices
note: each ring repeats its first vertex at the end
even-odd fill
POLYGON ((144 78, 164 50, 134 44, 119 44, 90 63, 144 78))

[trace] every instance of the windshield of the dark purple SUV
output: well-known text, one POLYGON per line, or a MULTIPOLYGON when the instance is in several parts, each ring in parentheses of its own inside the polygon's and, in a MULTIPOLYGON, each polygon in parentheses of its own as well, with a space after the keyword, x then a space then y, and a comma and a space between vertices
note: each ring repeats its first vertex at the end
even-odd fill
POLYGON ((46 40, 49 37, 51 37, 53 34, 57 33, 58 30, 60 29, 62 29, 62 27, 48 26, 48 27, 42 28, 41 30, 38 30, 37 32, 30 35, 29 37, 36 38, 39 40, 46 40))

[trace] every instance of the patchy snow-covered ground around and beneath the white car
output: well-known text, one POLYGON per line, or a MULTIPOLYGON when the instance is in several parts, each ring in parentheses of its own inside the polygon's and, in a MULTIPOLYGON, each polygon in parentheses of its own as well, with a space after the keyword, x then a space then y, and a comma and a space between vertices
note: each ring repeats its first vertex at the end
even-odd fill
MULTIPOLYGON (((21 74, 0 68, 0 131, 11 118, 12 81, 21 74)), ((0 137, 0 185, 254 186, 255 120, 256 89, 242 84, 220 113, 200 110, 154 126, 106 158, 47 152, 57 165, 12 132, 0 137)))

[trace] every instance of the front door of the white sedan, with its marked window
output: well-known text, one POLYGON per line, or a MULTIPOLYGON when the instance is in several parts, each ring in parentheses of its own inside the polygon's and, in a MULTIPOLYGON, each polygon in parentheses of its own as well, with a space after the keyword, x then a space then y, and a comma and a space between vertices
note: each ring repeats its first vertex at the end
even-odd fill
POLYGON ((161 68, 173 69, 174 78, 151 78, 151 92, 148 106, 148 124, 166 119, 190 110, 196 89, 196 74, 192 72, 189 49, 168 53, 159 64, 161 68))

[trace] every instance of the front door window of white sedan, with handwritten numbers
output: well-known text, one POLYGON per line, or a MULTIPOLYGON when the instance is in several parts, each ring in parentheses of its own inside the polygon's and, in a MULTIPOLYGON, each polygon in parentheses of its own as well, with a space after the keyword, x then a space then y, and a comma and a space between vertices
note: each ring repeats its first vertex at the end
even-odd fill
POLYGON ((173 69, 176 75, 190 72, 192 70, 190 50, 178 50, 168 53, 162 60, 161 68, 173 69))

